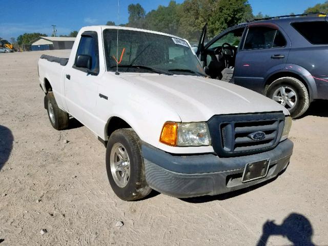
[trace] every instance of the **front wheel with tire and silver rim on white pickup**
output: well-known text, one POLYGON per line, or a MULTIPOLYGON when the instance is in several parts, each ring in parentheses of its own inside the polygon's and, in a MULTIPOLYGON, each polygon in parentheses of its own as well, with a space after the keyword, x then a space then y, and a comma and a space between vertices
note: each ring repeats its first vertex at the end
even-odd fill
POLYGON ((132 129, 119 129, 110 136, 106 170, 114 193, 122 200, 141 199, 152 190, 146 182, 139 138, 132 129))

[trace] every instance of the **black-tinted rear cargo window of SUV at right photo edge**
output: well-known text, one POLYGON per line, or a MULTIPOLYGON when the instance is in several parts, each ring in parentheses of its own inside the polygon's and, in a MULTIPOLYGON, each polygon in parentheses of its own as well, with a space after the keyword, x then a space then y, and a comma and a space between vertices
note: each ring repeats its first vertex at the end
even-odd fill
POLYGON ((291 24, 303 37, 313 45, 328 44, 328 23, 320 22, 294 22, 291 24))

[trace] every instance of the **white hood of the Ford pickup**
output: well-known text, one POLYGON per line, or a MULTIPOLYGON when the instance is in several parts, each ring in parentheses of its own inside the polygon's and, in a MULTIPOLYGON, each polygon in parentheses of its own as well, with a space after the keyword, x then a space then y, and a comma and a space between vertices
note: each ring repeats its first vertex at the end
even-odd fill
POLYGON ((182 122, 207 121, 213 115, 283 111, 275 101, 217 79, 188 75, 121 73, 141 91, 167 104, 182 122))

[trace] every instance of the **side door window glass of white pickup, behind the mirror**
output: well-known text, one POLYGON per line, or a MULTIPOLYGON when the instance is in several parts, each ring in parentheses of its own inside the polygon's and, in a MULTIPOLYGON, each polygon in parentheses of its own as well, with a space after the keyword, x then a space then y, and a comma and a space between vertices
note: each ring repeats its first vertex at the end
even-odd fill
POLYGON ((98 52, 98 39, 97 34, 94 35, 84 35, 82 34, 80 43, 78 44, 76 57, 78 55, 89 55, 92 58, 91 71, 99 71, 99 52, 98 52))

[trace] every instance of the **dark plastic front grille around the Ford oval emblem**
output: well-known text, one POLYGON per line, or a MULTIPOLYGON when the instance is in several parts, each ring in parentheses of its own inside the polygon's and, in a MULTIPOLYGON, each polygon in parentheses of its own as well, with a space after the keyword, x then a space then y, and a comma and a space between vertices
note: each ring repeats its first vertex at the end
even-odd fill
POLYGON ((279 143, 284 114, 217 115, 208 124, 215 152, 222 157, 238 156, 273 149, 279 143), (256 132, 264 132, 265 138, 253 140, 256 132))

